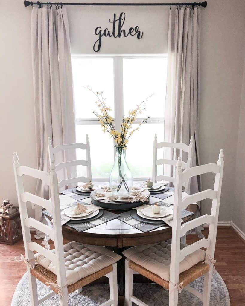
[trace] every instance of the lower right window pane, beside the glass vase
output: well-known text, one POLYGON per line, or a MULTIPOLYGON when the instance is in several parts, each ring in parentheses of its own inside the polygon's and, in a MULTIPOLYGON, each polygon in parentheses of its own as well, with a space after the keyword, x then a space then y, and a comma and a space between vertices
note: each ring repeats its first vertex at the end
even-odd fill
POLYGON ((157 134, 158 142, 163 141, 163 123, 142 124, 140 129, 134 132, 129 139, 126 157, 134 177, 152 177, 153 141, 155 133, 157 134))

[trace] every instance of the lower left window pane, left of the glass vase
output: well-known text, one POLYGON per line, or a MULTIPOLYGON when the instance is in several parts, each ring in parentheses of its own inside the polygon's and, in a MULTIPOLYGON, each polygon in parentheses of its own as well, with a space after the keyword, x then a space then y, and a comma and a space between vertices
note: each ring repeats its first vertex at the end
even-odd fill
MULTIPOLYGON (((89 136, 92 178, 109 178, 114 162, 113 140, 97 125, 77 125, 76 141, 85 143, 89 136)), ((77 150, 77 159, 85 159, 85 150, 77 150)), ((86 167, 77 167, 78 175, 86 176, 86 167)))

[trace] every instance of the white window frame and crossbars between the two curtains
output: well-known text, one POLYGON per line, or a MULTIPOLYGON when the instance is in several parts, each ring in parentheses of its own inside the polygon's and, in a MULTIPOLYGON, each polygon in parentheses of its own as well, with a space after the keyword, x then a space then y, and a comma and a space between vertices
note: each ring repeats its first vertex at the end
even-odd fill
MULTIPOLYGON (((120 130, 121 121, 124 115, 123 109, 123 59, 124 58, 167 58, 167 54, 134 54, 134 55, 72 55, 72 58, 112 58, 113 59, 113 80, 114 80, 114 126, 120 130), (119 101, 120 103, 115 103, 119 101)), ((144 118, 137 118, 134 124, 139 124, 144 118)), ((163 124, 164 118, 149 118, 147 124, 163 124)), ((76 125, 100 124, 98 118, 76 118, 76 125)), ((114 158, 116 150, 114 148, 114 158)), ((134 181, 145 181, 148 177, 134 177, 134 181)), ((95 178, 93 181, 108 181, 109 178, 95 178)))

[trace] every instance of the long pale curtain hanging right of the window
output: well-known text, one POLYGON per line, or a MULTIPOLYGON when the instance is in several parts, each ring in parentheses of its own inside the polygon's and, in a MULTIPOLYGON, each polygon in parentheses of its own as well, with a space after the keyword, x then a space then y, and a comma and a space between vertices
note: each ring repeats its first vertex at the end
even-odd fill
MULTIPOLYGON (((199 101, 199 40, 200 8, 170 9, 168 28, 168 73, 165 103, 164 141, 189 144, 194 136, 192 166, 198 165, 198 101, 199 101)), ((164 158, 177 159, 178 150, 164 151, 164 158)), ((183 160, 187 156, 182 154, 183 160)), ((173 168, 164 167, 173 175, 173 168)), ((200 181, 194 177, 190 193, 198 192, 200 181)), ((197 216, 200 215, 200 204, 197 216)), ((200 228, 198 229, 201 235, 200 228)))

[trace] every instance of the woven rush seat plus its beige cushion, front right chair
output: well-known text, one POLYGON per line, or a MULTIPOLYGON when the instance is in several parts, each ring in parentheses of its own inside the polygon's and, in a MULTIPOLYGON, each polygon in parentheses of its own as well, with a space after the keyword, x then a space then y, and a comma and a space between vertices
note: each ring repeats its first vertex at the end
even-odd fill
MULTIPOLYGON (((180 249, 185 248, 186 246, 187 244, 181 243, 180 249)), ((129 248, 123 251, 123 255, 130 259, 129 267, 132 267, 134 271, 137 271, 150 279, 152 279, 150 274, 153 274, 155 279, 154 282, 168 289, 171 240, 163 241, 157 244, 142 245, 129 248)), ((186 275, 189 275, 188 273, 184 273, 185 271, 190 271, 190 273, 196 274, 197 269, 201 269, 201 275, 205 274, 209 270, 209 265, 202 263, 199 264, 200 262, 205 261, 205 255, 206 252, 199 249, 186 256, 182 262, 180 262, 180 275, 185 278, 186 275)))

